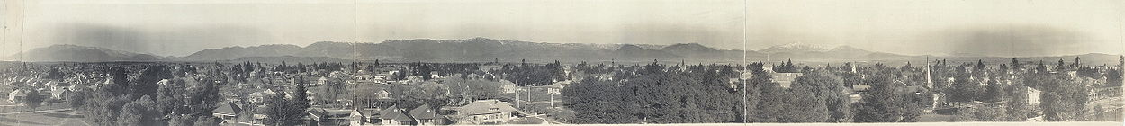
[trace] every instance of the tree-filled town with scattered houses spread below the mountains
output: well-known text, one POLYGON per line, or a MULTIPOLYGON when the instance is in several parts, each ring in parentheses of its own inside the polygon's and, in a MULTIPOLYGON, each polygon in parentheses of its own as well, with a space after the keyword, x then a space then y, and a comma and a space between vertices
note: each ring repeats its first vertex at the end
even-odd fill
POLYGON ((120 126, 1122 122, 1119 62, 9 62, 0 104, 120 126))

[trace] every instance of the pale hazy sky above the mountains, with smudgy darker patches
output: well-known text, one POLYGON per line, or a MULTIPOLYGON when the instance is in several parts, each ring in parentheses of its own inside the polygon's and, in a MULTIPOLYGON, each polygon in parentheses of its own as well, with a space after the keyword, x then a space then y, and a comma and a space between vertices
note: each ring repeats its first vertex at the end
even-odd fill
POLYGON ((206 48, 488 37, 542 43, 848 45, 909 55, 1123 54, 1119 0, 4 1, 2 55, 56 44, 206 48), (24 8, 19 8, 24 7, 24 8), (26 10, 26 11, 24 11, 26 10), (26 14, 26 16, 21 16, 26 14), (24 20, 19 20, 24 19, 24 20), (19 21, 24 21, 22 24, 19 21), (22 32, 14 28, 22 27, 22 32), (22 35, 20 34, 22 33, 22 35))

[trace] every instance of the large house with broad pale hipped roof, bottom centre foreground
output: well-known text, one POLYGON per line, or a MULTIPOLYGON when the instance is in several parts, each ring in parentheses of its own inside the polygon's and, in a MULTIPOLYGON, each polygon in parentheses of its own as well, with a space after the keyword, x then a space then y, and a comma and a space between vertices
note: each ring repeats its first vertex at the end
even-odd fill
POLYGON ((458 124, 504 124, 514 118, 516 109, 512 104, 496 99, 477 100, 454 109, 458 124))

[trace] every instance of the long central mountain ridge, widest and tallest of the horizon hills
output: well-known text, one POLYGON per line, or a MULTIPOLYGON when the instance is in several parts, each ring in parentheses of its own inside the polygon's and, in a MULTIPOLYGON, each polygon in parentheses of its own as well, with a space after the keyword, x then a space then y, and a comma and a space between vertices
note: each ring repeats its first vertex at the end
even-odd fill
MULTIPOLYGON (((360 60, 398 62, 565 62, 578 61, 738 61, 741 51, 720 51, 699 44, 631 45, 631 44, 556 44, 504 40, 492 38, 469 39, 398 39, 382 43, 359 43, 360 60), (736 58, 737 57, 737 58, 736 58)), ((320 42, 300 47, 296 45, 263 45, 205 50, 174 58, 178 61, 224 61, 255 56, 300 56, 353 58, 352 44, 320 42)))

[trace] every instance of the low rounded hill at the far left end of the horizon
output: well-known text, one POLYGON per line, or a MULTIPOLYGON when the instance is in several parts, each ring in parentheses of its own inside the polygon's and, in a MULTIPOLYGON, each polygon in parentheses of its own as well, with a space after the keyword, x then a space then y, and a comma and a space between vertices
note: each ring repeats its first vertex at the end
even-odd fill
POLYGON ((8 58, 18 60, 20 55, 22 55, 24 61, 28 62, 115 62, 162 60, 162 57, 151 54, 140 54, 78 45, 53 45, 34 48, 22 54, 10 55, 8 58))

